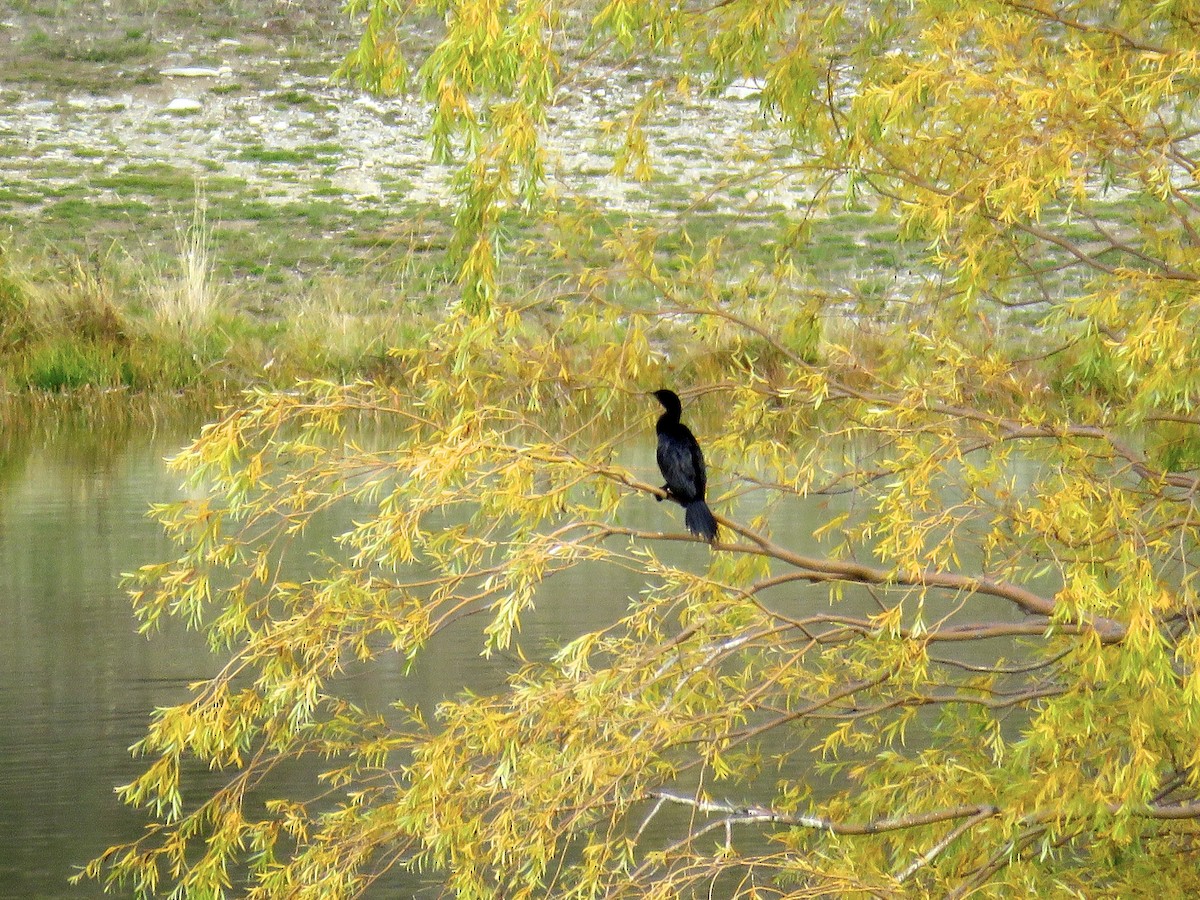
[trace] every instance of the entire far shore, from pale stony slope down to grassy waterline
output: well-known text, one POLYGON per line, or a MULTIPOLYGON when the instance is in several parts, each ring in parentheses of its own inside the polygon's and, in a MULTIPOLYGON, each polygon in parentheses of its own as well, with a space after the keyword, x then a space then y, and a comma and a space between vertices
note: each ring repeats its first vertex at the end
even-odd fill
MULTIPOLYGON (((358 29, 336 4, 284 12, 23 0, 6 13, 0 80, 19 90, 0 90, 0 390, 208 395, 402 376, 389 348, 419 344, 457 299, 449 169, 430 162, 420 101, 331 83, 358 29), (169 74, 179 66, 220 74, 169 74), (196 110, 170 112, 181 97, 196 110)), ((787 154, 751 127, 755 103, 664 118, 659 169, 637 184, 611 178, 598 122, 640 77, 606 78, 565 98, 552 126, 563 196, 608 212, 587 239, 658 228, 664 270, 714 238, 731 268, 769 259, 803 209, 787 185, 758 190, 750 175, 756 156, 787 154), (752 151, 714 149, 731 128, 752 151)), ((506 223, 517 295, 547 296, 539 286, 562 274, 548 247, 583 240, 552 228, 517 212, 506 223)), ((791 258, 853 305, 895 292, 889 272, 916 256, 894 226, 835 204, 791 258)))

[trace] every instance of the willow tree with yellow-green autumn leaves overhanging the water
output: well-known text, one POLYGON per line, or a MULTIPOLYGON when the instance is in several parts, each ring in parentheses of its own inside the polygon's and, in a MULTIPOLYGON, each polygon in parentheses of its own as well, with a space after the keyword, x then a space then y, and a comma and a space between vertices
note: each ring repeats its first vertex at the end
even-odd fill
POLYGON ((121 788, 155 821, 89 872, 185 896, 401 868, 464 898, 1200 892, 1200 6, 350 7, 348 71, 420 92, 460 166, 462 302, 397 349, 402 386, 252 395, 175 460, 196 499, 160 510, 181 551, 137 608, 227 664, 157 712, 121 788), (589 193, 556 144, 631 67, 595 140, 652 199, 655 124, 761 88, 678 215, 589 193), (893 262, 812 252, 850 222, 893 262), (662 384, 706 443, 710 552, 678 552, 637 462, 662 384), (330 521, 330 552, 288 554, 330 521), (613 568, 641 586, 624 614, 522 640, 544 584, 577 570, 588 604, 613 568), (515 660, 503 689, 347 700, 346 667, 450 630, 515 660), (271 794, 302 756, 325 778, 271 794), (224 785, 186 792, 194 761, 224 785))

